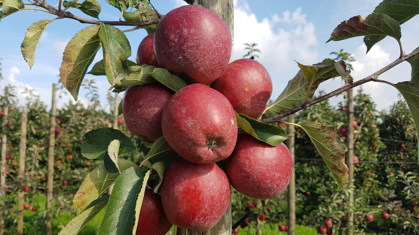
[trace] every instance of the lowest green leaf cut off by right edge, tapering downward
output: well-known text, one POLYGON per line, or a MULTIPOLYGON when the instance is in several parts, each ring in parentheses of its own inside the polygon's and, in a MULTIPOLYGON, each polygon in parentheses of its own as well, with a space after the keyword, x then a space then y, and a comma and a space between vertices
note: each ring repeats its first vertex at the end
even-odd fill
MULTIPOLYGON (((409 106, 409 110, 412 114, 415 128, 419 130, 419 85, 414 84, 411 82, 399 82, 393 84, 394 87, 398 89, 398 91, 403 96, 404 100, 406 100, 407 106, 409 106)), ((416 135, 419 136, 418 133, 416 135)), ((417 137, 418 137, 417 136, 417 137)), ((418 148, 419 148, 419 138, 418 139, 418 148)), ((418 163, 419 163, 419 151, 418 151, 418 163)))

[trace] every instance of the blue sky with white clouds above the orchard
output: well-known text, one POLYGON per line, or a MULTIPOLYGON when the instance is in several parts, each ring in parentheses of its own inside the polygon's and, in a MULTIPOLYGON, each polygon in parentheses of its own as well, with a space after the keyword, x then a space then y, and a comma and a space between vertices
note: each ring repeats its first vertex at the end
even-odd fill
MULTIPOLYGON (((58 1, 48 1, 50 5, 58 1)), ((119 12, 108 5, 104 0, 101 20, 118 20, 119 12)), ((162 14, 184 4, 182 0, 152 0, 151 3, 162 14)), ((393 38, 385 38, 375 45, 368 54, 363 46, 362 37, 351 38, 344 41, 325 43, 333 29, 343 20, 354 15, 368 15, 378 0, 353 0, 348 5, 341 1, 284 1, 284 0, 235 0, 235 40, 234 58, 239 59, 246 51, 243 43, 258 43, 261 50, 258 61, 263 64, 272 77, 274 92, 272 99, 282 92, 287 82, 297 73, 298 67, 293 61, 302 64, 314 64, 328 58, 331 51, 344 49, 357 60, 353 62, 354 80, 372 74, 386 64, 398 58, 398 44, 393 38)), ((88 18, 81 11, 72 9, 72 13, 88 18)), ((25 87, 36 90, 41 99, 48 105, 51 100, 52 83, 58 81, 59 66, 62 61, 62 52, 67 42, 81 29, 89 26, 72 19, 56 20, 51 23, 41 37, 35 54, 35 63, 31 70, 21 54, 20 46, 26 29, 34 22, 43 19, 52 19, 53 15, 41 11, 24 10, 3 18, 0 22, 0 58, 2 58, 3 88, 11 83, 17 86, 18 92, 25 87)), ((402 25, 402 43, 406 53, 413 51, 419 44, 416 40, 419 18, 413 18, 402 25)), ((122 30, 128 27, 120 27, 122 30)), ((146 36, 144 30, 126 33, 132 47, 130 59, 135 61, 137 46, 146 36)), ((99 51, 101 52, 101 51, 99 51)), ((101 53, 95 61, 101 59, 101 53)), ((93 64, 92 64, 93 65, 93 64)), ((390 82, 406 81, 410 79, 410 65, 407 62, 396 66, 383 74, 380 79, 390 82)), ((109 83, 105 77, 86 75, 87 79, 96 78, 102 103, 105 104, 106 92, 109 83)), ((343 85, 341 79, 333 79, 320 85, 319 89, 330 92, 343 85)), ((377 102, 378 108, 386 109, 397 99, 396 90, 380 83, 364 84, 368 92, 377 102)), ((80 102, 85 100, 85 90, 80 89, 80 102)), ((25 102, 24 96, 19 95, 20 103, 25 102)), ((122 95, 121 95, 122 97, 122 95)), ((69 102, 72 97, 67 94, 59 100, 59 105, 69 102)), ((332 104, 341 101, 342 96, 331 100, 332 104)))

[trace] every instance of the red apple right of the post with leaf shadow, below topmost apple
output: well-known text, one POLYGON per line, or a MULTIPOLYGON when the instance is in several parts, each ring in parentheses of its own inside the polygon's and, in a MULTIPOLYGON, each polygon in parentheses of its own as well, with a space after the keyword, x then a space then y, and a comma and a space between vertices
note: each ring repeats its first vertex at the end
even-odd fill
POLYGON ((253 59, 231 62, 211 87, 225 95, 236 112, 255 119, 261 117, 272 95, 271 76, 253 59))

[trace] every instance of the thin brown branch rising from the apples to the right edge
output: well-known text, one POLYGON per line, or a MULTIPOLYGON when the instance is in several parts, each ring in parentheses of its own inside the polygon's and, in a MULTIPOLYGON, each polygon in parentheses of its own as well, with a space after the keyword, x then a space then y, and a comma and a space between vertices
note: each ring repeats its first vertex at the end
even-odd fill
POLYGON ((389 69, 393 68, 394 66, 400 64, 401 62, 406 61, 407 59, 410 59, 410 58, 412 58, 414 56, 417 56, 417 55, 419 55, 419 50, 418 51, 414 51, 414 52, 412 52, 410 54, 407 54, 407 55, 403 55, 403 56, 401 56, 401 58, 396 59, 391 64, 388 64, 387 66, 383 67, 382 69, 378 70, 377 72, 375 72, 375 73, 373 73, 373 74, 371 74, 371 75, 369 75, 369 76, 367 76, 367 77, 365 77, 363 79, 360 79, 357 82, 354 82, 352 85, 351 84, 344 85, 343 87, 340 87, 340 88, 338 88, 338 89, 336 89, 336 90, 334 90, 334 91, 332 91, 332 92, 330 92, 330 93, 328 93, 326 95, 323 95, 321 97, 318 97, 318 98, 316 98, 314 100, 309 101, 307 103, 307 105, 305 105, 303 103, 301 105, 298 105, 296 107, 293 107, 292 109, 290 109, 290 110, 288 110, 286 112, 280 113, 280 114, 278 114, 278 115, 276 115, 274 117, 270 117, 270 118, 268 118, 266 120, 263 120, 261 122, 264 122, 264 123, 279 122, 282 118, 287 117, 287 116, 289 116, 289 115, 291 115, 293 113, 296 113, 296 112, 298 112, 300 110, 303 110, 306 107, 309 107, 311 105, 315 105, 318 102, 322 102, 323 100, 327 100, 327 99, 329 99, 331 97, 334 97, 336 95, 339 95, 340 93, 345 92, 345 91, 347 91, 349 89, 352 89, 354 87, 360 86, 360 85, 362 85, 362 84, 364 84, 366 82, 374 81, 374 80, 376 80, 378 78, 378 76, 380 74, 383 74, 384 72, 386 72, 389 69))

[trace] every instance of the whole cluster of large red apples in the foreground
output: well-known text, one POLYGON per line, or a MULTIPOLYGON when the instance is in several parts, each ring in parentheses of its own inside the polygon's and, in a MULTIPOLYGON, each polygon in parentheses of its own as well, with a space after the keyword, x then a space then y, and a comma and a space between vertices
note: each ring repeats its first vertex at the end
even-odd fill
POLYGON ((272 80, 257 61, 229 63, 231 50, 227 24, 199 5, 171 10, 141 41, 138 65, 165 68, 189 85, 176 93, 158 82, 125 91, 127 129, 151 142, 164 136, 181 156, 164 174, 161 194, 146 189, 137 235, 163 235, 172 224, 208 230, 228 208, 230 184, 257 199, 275 197, 289 184, 292 160, 283 143, 238 134, 234 111, 261 117, 272 80))

